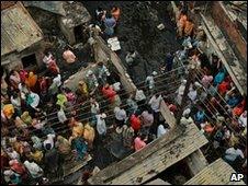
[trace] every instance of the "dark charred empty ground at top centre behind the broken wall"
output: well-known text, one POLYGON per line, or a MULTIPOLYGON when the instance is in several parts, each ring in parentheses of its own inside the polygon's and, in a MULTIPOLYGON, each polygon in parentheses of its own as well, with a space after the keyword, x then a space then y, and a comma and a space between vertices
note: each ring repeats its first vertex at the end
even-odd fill
POLYGON ((135 49, 140 56, 140 62, 133 69, 134 82, 144 81, 146 75, 154 70, 158 71, 168 51, 176 51, 180 48, 176 40, 176 25, 171 22, 167 5, 169 2, 151 1, 83 1, 90 14, 94 15, 98 7, 106 11, 112 5, 121 9, 121 19, 117 25, 116 35, 121 42, 121 51, 117 53, 125 63, 125 56, 128 50, 135 49), (159 31, 157 25, 165 24, 165 30, 159 31))

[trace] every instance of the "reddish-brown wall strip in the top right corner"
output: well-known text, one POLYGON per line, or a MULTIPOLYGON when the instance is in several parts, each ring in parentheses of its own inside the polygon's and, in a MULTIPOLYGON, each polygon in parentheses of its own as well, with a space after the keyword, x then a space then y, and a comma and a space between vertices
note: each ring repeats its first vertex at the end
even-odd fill
POLYGON ((243 61, 247 61, 247 44, 243 38, 241 33, 238 31, 238 26, 235 22, 230 20, 222 2, 214 1, 210 8, 211 14, 215 23, 219 28, 229 37, 230 42, 234 44, 234 50, 238 50, 243 61))

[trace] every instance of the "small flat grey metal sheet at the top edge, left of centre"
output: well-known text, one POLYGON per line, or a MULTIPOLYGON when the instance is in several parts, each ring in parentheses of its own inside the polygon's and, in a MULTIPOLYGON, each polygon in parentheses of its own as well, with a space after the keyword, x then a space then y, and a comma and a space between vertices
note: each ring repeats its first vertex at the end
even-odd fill
POLYGON ((25 7, 35 7, 55 14, 66 15, 63 1, 23 1, 25 7))

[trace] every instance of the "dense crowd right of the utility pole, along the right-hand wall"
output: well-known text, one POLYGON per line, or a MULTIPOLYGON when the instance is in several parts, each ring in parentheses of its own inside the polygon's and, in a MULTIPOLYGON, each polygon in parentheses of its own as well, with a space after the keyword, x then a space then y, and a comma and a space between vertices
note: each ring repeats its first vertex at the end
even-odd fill
MULTIPOLYGON (((239 93, 222 60, 207 49, 206 35, 201 26, 196 28, 193 23, 188 23, 192 20, 187 10, 182 5, 177 22, 183 48, 166 57, 168 71, 177 60, 195 67, 181 123, 198 125, 211 141, 210 150, 246 174, 246 95, 239 93)), ((173 102, 176 106, 181 105, 185 84, 187 80, 182 80, 173 102)))

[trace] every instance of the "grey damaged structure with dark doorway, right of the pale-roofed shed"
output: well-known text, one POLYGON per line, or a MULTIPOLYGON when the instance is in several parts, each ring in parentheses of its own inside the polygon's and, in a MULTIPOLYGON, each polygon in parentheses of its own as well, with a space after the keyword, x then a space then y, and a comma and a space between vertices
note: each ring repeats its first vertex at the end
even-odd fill
POLYGON ((46 31, 55 35, 60 30, 69 45, 86 40, 83 30, 91 15, 82 3, 77 1, 24 1, 34 20, 46 31), (53 30, 53 31, 50 31, 53 30))

